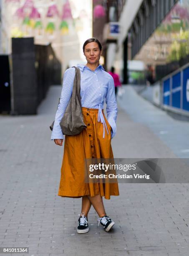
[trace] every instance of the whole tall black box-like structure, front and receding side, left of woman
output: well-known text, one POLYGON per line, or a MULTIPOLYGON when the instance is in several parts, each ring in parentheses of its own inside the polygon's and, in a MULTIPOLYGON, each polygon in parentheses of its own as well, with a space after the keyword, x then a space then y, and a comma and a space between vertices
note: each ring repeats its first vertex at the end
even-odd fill
POLYGON ((12 114, 36 114, 52 84, 61 84, 61 64, 51 45, 34 45, 33 38, 12 38, 12 114))

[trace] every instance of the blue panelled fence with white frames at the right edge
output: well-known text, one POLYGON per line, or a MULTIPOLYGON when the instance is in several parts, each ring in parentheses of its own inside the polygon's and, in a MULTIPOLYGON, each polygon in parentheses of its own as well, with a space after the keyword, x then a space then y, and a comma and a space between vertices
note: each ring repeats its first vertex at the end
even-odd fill
POLYGON ((189 64, 169 74, 162 82, 164 107, 189 113, 189 64))

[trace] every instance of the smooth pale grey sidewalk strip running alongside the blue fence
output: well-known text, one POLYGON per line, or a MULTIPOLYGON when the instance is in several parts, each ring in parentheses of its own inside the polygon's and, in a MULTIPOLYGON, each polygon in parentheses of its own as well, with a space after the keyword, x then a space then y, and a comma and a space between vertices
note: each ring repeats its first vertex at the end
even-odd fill
MULTIPOLYGON (((131 86, 124 86, 118 103, 134 122, 147 126, 174 152, 176 157, 189 158, 189 122, 172 118, 139 96, 131 86)), ((146 137, 148 139, 148 137, 146 137)), ((168 155, 164 157, 169 157, 168 155)))

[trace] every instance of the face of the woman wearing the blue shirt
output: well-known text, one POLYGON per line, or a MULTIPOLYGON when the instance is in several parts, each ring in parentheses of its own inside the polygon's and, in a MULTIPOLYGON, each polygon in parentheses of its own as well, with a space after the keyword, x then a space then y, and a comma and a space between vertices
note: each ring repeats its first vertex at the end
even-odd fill
POLYGON ((101 57, 101 52, 98 44, 96 42, 91 42, 86 44, 84 49, 84 55, 86 60, 90 64, 95 64, 99 61, 101 57))

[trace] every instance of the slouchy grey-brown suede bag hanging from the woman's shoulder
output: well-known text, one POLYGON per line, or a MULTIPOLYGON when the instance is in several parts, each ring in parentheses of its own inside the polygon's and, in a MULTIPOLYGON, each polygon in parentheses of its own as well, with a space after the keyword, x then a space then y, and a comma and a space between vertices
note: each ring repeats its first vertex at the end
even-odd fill
MULTIPOLYGON (((75 66, 73 66, 75 67, 75 66)), ((86 124, 83 122, 83 114, 81 110, 81 96, 80 96, 80 86, 81 86, 81 73, 78 67, 75 67, 76 74, 73 80, 73 91, 65 110, 63 118, 60 121, 60 127, 62 133, 65 135, 77 135, 86 128, 86 124)), ((60 102, 60 98, 59 98, 60 102)), ((59 104, 58 102, 58 104, 59 104)), ((53 131, 53 123, 50 125, 50 130, 53 131)))

